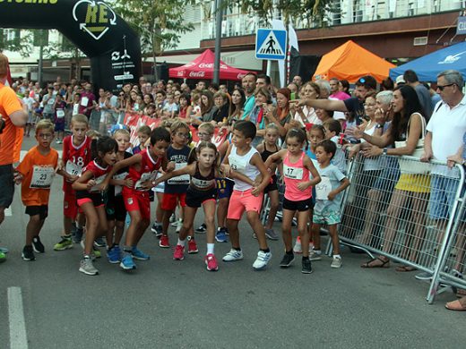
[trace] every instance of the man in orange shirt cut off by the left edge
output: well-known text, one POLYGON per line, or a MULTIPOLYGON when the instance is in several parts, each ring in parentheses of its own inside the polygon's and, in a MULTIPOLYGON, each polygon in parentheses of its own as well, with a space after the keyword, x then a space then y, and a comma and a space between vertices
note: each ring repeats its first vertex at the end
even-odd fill
MULTIPOLYGON (((0 225, 4 209, 13 202, 13 162, 20 159, 22 126, 28 121, 27 106, 16 97, 13 89, 4 86, 8 58, 0 54, 0 225)), ((0 262, 5 260, 0 250, 0 262)))

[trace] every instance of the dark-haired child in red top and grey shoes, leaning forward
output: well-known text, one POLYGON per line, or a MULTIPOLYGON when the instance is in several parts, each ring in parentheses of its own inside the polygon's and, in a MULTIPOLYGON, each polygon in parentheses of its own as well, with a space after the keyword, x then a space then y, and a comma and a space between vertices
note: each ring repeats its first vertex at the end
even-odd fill
POLYGON ((97 275, 99 270, 92 264, 94 240, 108 231, 107 216, 105 212, 102 191, 103 183, 111 166, 116 161, 116 141, 108 136, 103 136, 92 142, 96 158, 82 169, 80 177, 72 184, 76 191, 78 206, 86 216, 86 238, 84 240, 84 252, 79 271, 86 275, 97 275))

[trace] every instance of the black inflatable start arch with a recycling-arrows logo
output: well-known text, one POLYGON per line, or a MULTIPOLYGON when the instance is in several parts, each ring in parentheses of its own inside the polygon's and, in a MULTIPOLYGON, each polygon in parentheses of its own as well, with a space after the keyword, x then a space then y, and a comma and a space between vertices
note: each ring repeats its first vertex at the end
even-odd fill
POLYGON ((116 90, 141 74, 138 35, 103 1, 0 0, 0 27, 59 30, 91 58, 96 87, 116 90))

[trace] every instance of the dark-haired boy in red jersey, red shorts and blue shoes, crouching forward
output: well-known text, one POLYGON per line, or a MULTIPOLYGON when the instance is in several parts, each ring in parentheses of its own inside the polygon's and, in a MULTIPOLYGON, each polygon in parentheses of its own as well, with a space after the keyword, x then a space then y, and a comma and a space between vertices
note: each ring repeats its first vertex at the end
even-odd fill
POLYGON ((151 223, 149 191, 160 166, 167 169, 166 153, 169 142, 170 133, 166 129, 163 127, 153 129, 151 147, 116 163, 105 180, 104 186, 114 174, 129 166, 129 174, 126 179, 131 179, 134 184, 133 188, 123 187, 125 208, 131 217, 131 223, 126 231, 124 256, 120 263, 120 267, 125 270, 136 268, 133 258, 136 260, 150 259, 147 254, 137 248, 137 244, 151 223))

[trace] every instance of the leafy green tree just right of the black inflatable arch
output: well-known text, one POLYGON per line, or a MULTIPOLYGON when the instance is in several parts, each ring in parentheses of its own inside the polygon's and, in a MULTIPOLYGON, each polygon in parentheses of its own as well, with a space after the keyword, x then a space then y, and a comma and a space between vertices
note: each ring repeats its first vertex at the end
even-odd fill
POLYGON ((185 21, 186 4, 183 0, 115 0, 113 8, 141 37, 142 56, 151 55, 153 72, 157 55, 176 48, 182 34, 194 30, 185 21))

